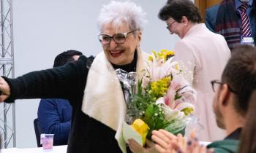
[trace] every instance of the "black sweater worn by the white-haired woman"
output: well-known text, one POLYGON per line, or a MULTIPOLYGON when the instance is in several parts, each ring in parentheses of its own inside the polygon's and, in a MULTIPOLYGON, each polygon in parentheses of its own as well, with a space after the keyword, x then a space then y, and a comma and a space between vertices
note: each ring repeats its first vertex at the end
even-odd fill
MULTIPOLYGON (((34 71, 17 79, 4 79, 10 85, 7 103, 23 98, 64 98, 73 107, 68 153, 121 152, 114 138, 116 131, 81 111, 83 92, 93 58, 81 56, 75 63, 34 71)), ((132 64, 133 65, 133 64, 132 64)))

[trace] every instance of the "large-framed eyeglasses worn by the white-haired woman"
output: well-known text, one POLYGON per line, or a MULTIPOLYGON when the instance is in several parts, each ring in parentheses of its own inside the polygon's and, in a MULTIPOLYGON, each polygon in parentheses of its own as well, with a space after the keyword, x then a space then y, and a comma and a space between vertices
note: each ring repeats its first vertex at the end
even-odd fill
POLYGON ((99 42, 103 45, 106 45, 110 44, 111 40, 113 39, 116 42, 116 44, 122 44, 127 40, 127 35, 136 30, 137 29, 120 34, 113 34, 113 36, 109 36, 108 34, 99 34, 99 42))

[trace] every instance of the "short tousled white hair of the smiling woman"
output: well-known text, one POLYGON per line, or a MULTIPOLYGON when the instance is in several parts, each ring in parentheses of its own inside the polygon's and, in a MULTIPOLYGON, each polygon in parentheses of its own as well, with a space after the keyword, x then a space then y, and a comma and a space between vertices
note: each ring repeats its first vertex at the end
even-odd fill
POLYGON ((111 1, 102 7, 98 17, 99 31, 105 24, 113 23, 118 26, 128 24, 130 30, 142 30, 146 12, 132 1, 111 1))

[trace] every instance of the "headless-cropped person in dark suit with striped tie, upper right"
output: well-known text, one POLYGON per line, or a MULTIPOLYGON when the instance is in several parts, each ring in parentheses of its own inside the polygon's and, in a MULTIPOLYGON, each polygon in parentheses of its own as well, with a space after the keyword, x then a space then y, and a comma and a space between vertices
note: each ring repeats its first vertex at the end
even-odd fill
POLYGON ((255 23, 255 0, 223 0, 220 4, 206 9, 207 28, 217 34, 222 34, 230 50, 239 44, 255 45, 255 23), (248 17, 248 25, 246 25, 246 17, 248 17), (246 26, 249 32, 244 34, 243 31, 247 30, 246 26), (249 39, 244 39, 244 37, 249 39))

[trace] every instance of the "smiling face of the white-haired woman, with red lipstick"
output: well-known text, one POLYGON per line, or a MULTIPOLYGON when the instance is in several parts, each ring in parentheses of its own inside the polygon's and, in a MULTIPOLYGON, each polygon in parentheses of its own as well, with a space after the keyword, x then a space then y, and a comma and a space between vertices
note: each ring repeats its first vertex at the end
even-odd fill
MULTIPOLYGON (((123 24, 122 26, 114 26, 112 23, 105 24, 102 28, 102 34, 107 34, 113 36, 113 34, 127 33, 134 29, 129 29, 128 24, 123 24)), ((140 46, 140 31, 134 31, 127 34, 127 39, 124 43, 117 44, 113 39, 111 39, 109 44, 102 44, 103 50, 106 57, 111 63, 116 65, 125 65, 131 63, 136 47, 140 46)))

